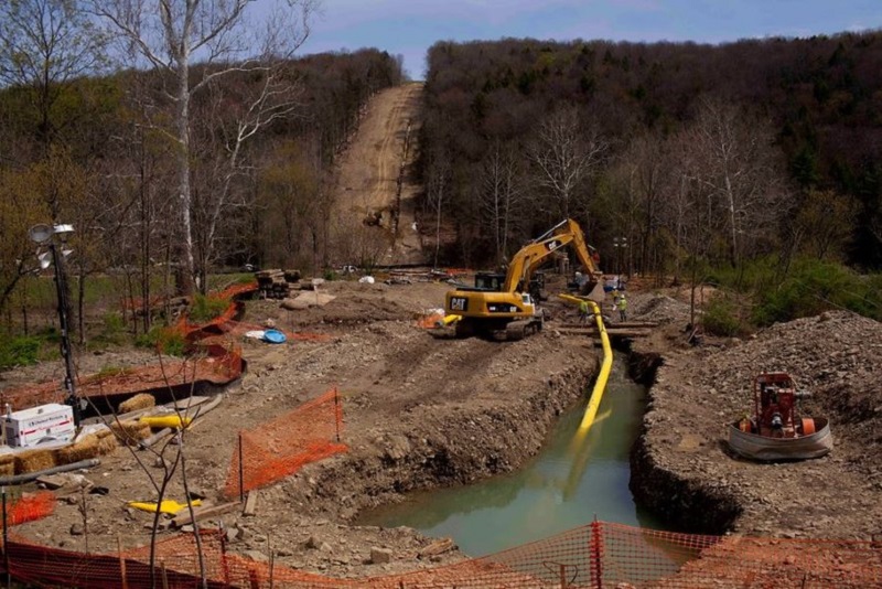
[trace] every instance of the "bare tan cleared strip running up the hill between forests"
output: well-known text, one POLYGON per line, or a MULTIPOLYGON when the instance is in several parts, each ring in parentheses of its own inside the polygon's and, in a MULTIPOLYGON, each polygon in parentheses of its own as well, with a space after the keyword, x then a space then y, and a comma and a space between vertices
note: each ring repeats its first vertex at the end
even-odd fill
POLYGON ((364 219, 377 212, 381 214, 379 225, 367 228, 387 239, 389 247, 379 264, 426 263, 415 217, 420 186, 413 183, 410 165, 417 152, 422 89, 422 83, 409 83, 387 88, 370 99, 352 143, 341 158, 334 183, 333 202, 341 226, 365 227, 364 219), (404 159, 408 136, 409 148, 404 159), (391 212, 402 163, 400 213, 395 232, 391 212))

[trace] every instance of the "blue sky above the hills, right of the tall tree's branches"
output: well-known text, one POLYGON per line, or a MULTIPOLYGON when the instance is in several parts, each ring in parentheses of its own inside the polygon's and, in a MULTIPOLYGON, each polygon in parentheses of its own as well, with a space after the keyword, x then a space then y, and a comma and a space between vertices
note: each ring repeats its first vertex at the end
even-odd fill
POLYGON ((882 0, 321 0, 301 53, 377 47, 420 79, 437 41, 697 41, 882 26, 882 0))

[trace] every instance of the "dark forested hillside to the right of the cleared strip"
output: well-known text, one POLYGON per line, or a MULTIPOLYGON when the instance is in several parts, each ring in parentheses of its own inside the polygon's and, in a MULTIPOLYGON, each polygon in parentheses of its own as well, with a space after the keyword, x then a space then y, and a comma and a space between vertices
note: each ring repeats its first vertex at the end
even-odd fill
POLYGON ((426 96, 449 261, 499 263, 573 216, 607 271, 882 267, 882 33, 440 42, 426 96))

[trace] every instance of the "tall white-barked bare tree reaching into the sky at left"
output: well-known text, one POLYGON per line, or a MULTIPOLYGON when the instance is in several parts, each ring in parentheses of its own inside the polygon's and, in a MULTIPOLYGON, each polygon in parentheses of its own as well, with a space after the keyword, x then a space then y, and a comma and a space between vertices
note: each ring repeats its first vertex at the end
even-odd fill
MULTIPOLYGON (((195 95, 232 74, 254 74, 256 95, 247 97, 238 113, 233 135, 225 141, 229 154, 229 186, 241 143, 276 118, 293 108, 280 68, 305 41, 314 0, 272 2, 275 10, 262 24, 249 18, 250 0, 88 0, 94 14, 131 52, 163 75, 166 95, 174 105, 173 127, 168 130, 176 144, 176 185, 181 235, 178 254, 183 260, 179 289, 193 290, 196 277, 192 224, 192 119, 195 95), (193 81, 200 62, 201 77, 193 81)), ((217 92, 220 92, 219 89, 217 92)), ((216 208, 217 211, 223 207, 216 208)))

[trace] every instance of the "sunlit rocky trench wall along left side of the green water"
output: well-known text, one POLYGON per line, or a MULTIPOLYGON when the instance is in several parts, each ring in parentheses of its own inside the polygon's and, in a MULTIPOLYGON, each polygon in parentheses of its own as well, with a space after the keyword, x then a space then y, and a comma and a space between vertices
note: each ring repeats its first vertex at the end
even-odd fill
POLYGON ((422 408, 372 442, 305 467, 286 483, 290 500, 352 522, 406 493, 469 484, 513 471, 535 456, 555 419, 585 394, 598 362, 551 375, 505 403, 422 408))

